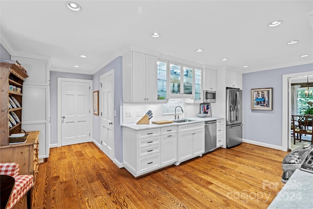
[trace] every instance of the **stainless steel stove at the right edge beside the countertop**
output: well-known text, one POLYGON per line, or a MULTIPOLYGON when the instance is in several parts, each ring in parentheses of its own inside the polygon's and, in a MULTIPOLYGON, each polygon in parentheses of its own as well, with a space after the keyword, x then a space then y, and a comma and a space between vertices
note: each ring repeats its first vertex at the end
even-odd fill
POLYGON ((313 173, 313 145, 302 143, 283 160, 282 182, 286 183, 296 169, 313 173))

